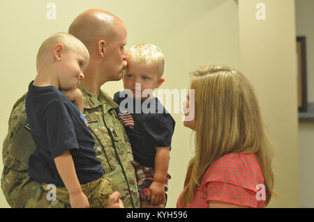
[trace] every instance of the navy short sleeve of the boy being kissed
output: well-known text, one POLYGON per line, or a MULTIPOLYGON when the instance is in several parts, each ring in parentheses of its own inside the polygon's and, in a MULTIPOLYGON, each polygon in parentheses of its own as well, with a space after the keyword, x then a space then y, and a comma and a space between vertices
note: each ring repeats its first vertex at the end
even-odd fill
POLYGON ((174 120, 169 113, 154 113, 143 121, 147 136, 156 147, 171 145, 174 132, 174 120))

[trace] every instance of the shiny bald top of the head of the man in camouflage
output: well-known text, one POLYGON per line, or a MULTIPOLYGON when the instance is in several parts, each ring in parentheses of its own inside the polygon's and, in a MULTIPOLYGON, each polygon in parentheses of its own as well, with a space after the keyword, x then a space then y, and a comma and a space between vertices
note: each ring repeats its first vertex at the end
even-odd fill
POLYGON ((109 44, 119 38, 121 29, 124 29, 124 24, 117 16, 105 10, 89 9, 75 18, 68 33, 90 49, 100 39, 109 44))

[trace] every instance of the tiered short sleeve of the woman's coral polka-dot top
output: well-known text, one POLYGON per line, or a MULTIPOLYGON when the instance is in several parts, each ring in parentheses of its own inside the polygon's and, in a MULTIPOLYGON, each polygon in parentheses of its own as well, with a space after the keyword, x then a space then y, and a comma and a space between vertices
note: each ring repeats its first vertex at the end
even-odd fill
POLYGON ((204 175, 207 203, 219 200, 246 207, 257 207, 257 177, 250 164, 237 157, 220 159, 204 175))

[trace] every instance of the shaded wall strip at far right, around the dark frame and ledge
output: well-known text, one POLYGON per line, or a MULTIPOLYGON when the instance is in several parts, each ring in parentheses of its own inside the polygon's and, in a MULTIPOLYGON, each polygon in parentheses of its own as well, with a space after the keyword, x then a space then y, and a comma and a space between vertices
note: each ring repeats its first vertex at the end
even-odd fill
MULTIPOLYGON (((296 0, 297 35, 306 36, 308 102, 314 102, 314 1, 296 0)), ((300 204, 314 207, 314 124, 299 124, 300 204)))

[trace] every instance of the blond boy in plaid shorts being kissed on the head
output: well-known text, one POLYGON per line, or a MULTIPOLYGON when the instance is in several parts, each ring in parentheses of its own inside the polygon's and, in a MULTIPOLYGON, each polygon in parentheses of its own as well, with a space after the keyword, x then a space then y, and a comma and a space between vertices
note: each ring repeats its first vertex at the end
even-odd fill
POLYGON ((128 51, 124 91, 114 102, 130 139, 141 207, 165 207, 167 174, 174 119, 154 97, 154 89, 165 81, 164 56, 155 45, 135 45, 128 51))

